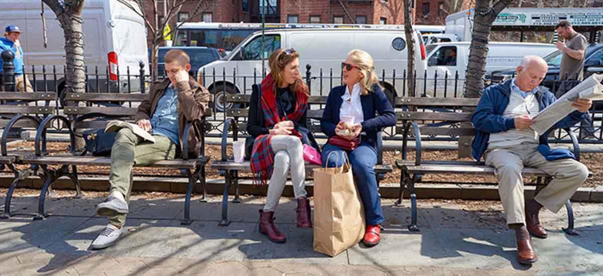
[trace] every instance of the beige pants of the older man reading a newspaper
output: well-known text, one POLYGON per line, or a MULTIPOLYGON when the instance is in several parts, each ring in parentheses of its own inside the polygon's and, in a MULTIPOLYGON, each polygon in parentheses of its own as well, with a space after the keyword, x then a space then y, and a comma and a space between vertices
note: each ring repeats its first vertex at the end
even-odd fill
POLYGON ((498 178, 498 191, 507 214, 507 224, 525 223, 523 166, 538 168, 552 175, 551 183, 534 199, 554 213, 559 212, 589 176, 589 169, 571 158, 547 161, 538 152, 537 146, 534 143, 524 143, 486 152, 485 163, 495 168, 494 174, 498 178))

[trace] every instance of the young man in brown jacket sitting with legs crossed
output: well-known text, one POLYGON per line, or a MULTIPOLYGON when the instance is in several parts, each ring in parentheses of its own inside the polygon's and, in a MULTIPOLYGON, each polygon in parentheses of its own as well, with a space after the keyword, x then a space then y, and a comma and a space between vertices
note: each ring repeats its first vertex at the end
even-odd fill
MULTIPOLYGON (((183 131, 187 121, 201 119, 207 110, 210 94, 189 78, 189 56, 181 50, 165 54, 168 80, 151 86, 148 99, 143 101, 135 119, 139 127, 153 134, 155 142, 143 141, 129 128, 122 128, 111 150, 110 195, 98 204, 96 213, 109 217, 109 224, 92 242, 93 249, 113 245, 123 232, 128 201, 132 188, 132 167, 148 165, 182 155, 183 131)), ((201 143, 196 132, 189 135, 189 157, 197 157, 201 143)))

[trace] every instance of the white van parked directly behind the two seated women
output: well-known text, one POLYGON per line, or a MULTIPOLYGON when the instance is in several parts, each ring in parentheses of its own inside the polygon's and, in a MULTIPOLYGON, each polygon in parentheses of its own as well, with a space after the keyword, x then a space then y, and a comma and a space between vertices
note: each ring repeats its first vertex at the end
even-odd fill
MULTIPOLYGON (((415 60, 419 72, 426 69, 425 48, 415 31, 415 60)), ((223 110, 223 90, 227 93, 251 93, 253 77, 262 77, 262 32, 247 37, 223 60, 213 61, 198 71, 200 83, 215 93, 215 104, 223 110), (216 77, 213 78, 215 72, 216 77), (233 73, 236 81, 233 81, 233 73), (223 74, 226 77, 223 77, 223 74), (246 81, 242 77, 247 77, 246 81)), ((311 66, 311 95, 328 95, 331 86, 341 85, 341 63, 352 49, 367 51, 374 59, 375 70, 388 95, 402 95, 405 87, 403 72, 407 67, 406 35, 403 28, 321 28, 279 29, 265 31, 268 55, 278 48, 294 48, 300 53, 300 73, 306 76, 306 64, 311 66), (396 80, 393 80, 396 70, 396 80), (332 76, 332 79, 330 78, 332 76), (321 78, 322 77, 322 78, 321 78)), ((267 55, 267 57, 268 57, 267 55)), ((265 69, 270 72, 268 58, 265 69)))

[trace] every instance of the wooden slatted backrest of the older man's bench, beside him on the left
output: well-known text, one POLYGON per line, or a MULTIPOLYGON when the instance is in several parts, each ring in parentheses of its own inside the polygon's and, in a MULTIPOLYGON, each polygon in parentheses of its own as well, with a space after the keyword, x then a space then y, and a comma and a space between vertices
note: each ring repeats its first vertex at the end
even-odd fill
POLYGON ((420 124, 421 135, 430 136, 473 136, 475 128, 471 125, 450 127, 451 124, 471 122, 472 113, 462 112, 463 108, 474 109, 479 98, 414 98, 402 97, 396 99, 397 134, 404 134, 408 122, 423 122, 420 124), (412 110, 411 107, 415 107, 412 110))

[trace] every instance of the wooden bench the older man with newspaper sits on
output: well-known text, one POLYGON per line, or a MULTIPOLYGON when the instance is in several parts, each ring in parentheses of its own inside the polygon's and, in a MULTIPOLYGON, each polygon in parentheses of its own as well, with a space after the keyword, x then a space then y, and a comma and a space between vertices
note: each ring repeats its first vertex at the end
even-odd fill
MULTIPOLYGON (((407 111, 397 112, 398 125, 396 133, 403 135, 402 160, 396 160, 400 172, 399 199, 402 202, 405 187, 408 187, 411 199, 411 224, 408 229, 418 231, 417 227, 417 196, 415 183, 421 182, 426 174, 453 174, 453 175, 494 175, 494 168, 484 165, 484 162, 475 161, 450 161, 450 160, 423 160, 421 158, 421 136, 475 136, 475 128, 471 124, 472 113, 461 113, 461 108, 475 110, 478 98, 398 98, 396 107, 407 111), (417 111, 411 111, 412 107, 417 111), (469 127, 465 124, 468 123, 469 127), (408 140, 414 137, 415 160, 407 160, 408 140)), ((573 153, 579 161, 578 139, 570 130, 565 130, 573 142, 573 153)), ((460 144, 460 143, 459 143, 460 144)), ((536 177, 536 195, 552 180, 552 176, 536 168, 524 167, 523 176, 536 177), (543 181, 544 180, 544 181, 543 181)), ((455 183, 450 183, 455 184, 455 183)), ((460 184, 460 183, 457 183, 460 184)), ((475 183, 497 185, 497 183, 475 183)), ((573 210, 570 201, 566 202, 568 227, 563 228, 567 234, 575 234, 573 230, 573 210)))

